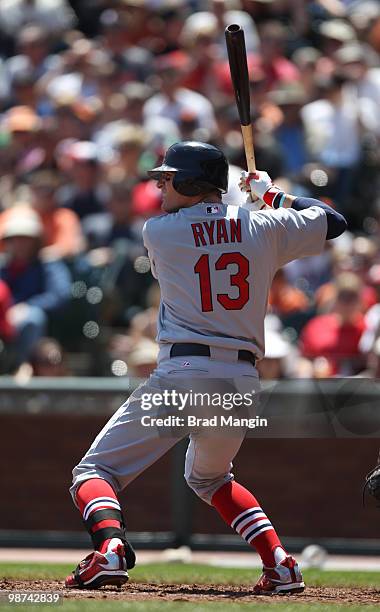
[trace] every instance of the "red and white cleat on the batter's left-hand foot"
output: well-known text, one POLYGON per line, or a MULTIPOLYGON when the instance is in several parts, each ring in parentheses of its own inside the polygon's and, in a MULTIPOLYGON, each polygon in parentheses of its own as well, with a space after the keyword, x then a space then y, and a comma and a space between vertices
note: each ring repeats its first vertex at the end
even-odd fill
POLYGON ((109 546, 105 553, 95 550, 75 568, 65 580, 69 589, 99 589, 102 586, 121 587, 127 582, 127 562, 123 544, 109 546))

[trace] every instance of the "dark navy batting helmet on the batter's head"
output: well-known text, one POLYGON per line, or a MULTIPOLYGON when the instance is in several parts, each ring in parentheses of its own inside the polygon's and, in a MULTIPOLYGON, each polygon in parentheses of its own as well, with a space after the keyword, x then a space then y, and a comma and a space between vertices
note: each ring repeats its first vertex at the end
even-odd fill
POLYGON ((163 172, 175 172, 173 187, 181 195, 196 196, 215 189, 227 191, 227 159, 220 149, 204 142, 177 142, 169 147, 162 165, 148 175, 158 181, 163 172))

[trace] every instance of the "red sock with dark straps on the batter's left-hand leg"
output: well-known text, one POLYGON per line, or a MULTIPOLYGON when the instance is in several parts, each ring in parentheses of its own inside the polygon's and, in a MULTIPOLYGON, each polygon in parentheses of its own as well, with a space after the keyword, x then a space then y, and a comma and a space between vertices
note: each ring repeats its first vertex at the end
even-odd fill
POLYGON ((110 529, 115 531, 113 537, 121 537, 121 508, 116 493, 108 482, 101 478, 85 480, 76 492, 76 500, 79 510, 86 523, 87 529, 94 542, 94 547, 100 552, 105 552, 112 537, 110 529), (99 512, 102 510, 103 512, 99 512), (120 514, 120 520, 117 512, 120 514), (110 518, 107 518, 107 514, 110 518), (112 518, 111 518, 112 517, 112 518), (120 531, 120 536, 118 535, 120 531))

